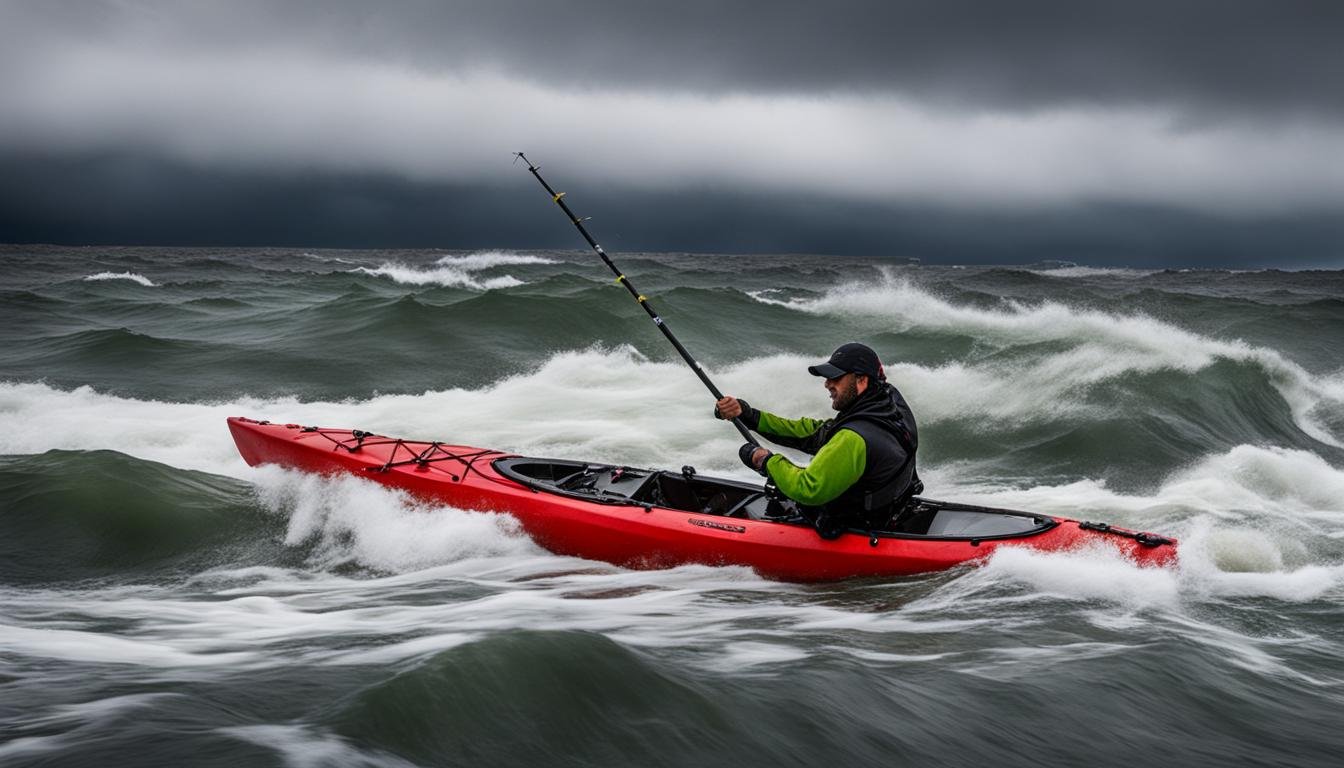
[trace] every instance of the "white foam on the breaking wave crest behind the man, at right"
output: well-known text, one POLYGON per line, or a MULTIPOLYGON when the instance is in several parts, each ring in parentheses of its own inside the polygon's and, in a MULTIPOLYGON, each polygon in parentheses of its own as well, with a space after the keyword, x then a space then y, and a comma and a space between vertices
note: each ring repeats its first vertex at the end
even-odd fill
POLYGON ((1028 360, 949 363, 937 369, 892 364, 902 391, 921 413, 953 410, 1003 420, 1027 420, 1086 412, 1089 387, 1133 374, 1175 370, 1198 373, 1220 359, 1259 366, 1308 434, 1344 448, 1329 428, 1327 412, 1344 413, 1344 374, 1313 375, 1274 350, 1241 340, 1219 340, 1144 315, 1109 315, 1056 303, 1023 305, 1005 301, 984 309, 945 301, 890 269, 882 278, 849 282, 817 299, 771 299, 763 304, 812 315, 839 315, 872 332, 935 330, 973 336, 991 348, 1058 343, 1062 351, 1028 360))

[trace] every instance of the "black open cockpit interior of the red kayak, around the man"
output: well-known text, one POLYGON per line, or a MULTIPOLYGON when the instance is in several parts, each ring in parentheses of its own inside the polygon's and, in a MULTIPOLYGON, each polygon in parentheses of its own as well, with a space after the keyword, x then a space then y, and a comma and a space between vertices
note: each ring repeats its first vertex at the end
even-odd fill
MULTIPOLYGON (((497 459, 495 469, 535 491, 603 504, 661 507, 793 525, 810 525, 812 519, 806 508, 767 492, 762 486, 704 477, 692 467, 669 472, 512 456, 497 459)), ((855 533, 870 537, 966 541, 1030 537, 1056 525, 1058 521, 1046 515, 917 498, 880 529, 855 533)))

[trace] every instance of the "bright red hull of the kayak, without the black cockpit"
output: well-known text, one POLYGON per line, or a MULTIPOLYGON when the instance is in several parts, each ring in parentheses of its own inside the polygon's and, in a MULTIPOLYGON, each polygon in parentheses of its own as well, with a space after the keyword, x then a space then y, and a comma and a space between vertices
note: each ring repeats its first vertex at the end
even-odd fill
POLYGON ((550 551, 628 568, 742 565, 770 578, 828 581, 945 570, 982 561, 1000 546, 1055 551, 1095 543, 1117 547, 1140 565, 1176 562, 1176 546, 1171 539, 1153 537, 1163 543, 1145 545, 1133 538, 1134 531, 1089 530, 1078 521, 1054 515, 1036 515, 1034 519, 1044 521, 1046 527, 1020 537, 853 531, 825 541, 804 525, 727 518, 650 503, 598 503, 543 492, 495 467, 495 461, 513 457, 511 453, 242 417, 228 418, 228 429, 250 465, 352 473, 421 499, 509 514, 550 551))

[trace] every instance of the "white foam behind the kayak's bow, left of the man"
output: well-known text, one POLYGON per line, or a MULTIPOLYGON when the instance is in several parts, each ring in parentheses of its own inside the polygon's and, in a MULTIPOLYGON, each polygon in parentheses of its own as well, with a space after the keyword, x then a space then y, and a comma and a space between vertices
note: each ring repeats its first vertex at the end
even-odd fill
MULTIPOLYGON (((741 391, 757 374, 732 369, 722 381, 741 391)), ((800 393, 792 399, 805 399, 801 390, 806 383, 814 382, 800 378, 800 393)), ((224 418, 253 416, 524 453, 696 464, 749 476, 737 461, 737 434, 708 417, 712 402, 699 386, 684 366, 648 362, 629 348, 562 352, 535 371, 480 390, 343 402, 238 398, 179 404, 121 398, 91 387, 67 391, 43 383, 0 383, 0 453, 112 448, 175 467, 250 479, 224 418), (648 408, 650 402, 659 406, 648 408)), ((816 389, 806 399, 816 404, 823 394, 816 389)))

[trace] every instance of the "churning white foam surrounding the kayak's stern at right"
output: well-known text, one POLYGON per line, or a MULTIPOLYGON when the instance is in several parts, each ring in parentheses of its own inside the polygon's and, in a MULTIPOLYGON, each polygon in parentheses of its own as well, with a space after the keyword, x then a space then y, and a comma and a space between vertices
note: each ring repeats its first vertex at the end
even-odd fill
MULTIPOLYGON (((923 473, 923 471, 922 471, 923 473)), ((1314 453, 1238 445, 1161 482, 1150 494, 1120 494, 1103 482, 1013 488, 957 482, 931 468, 939 496, 1113 522, 1180 538, 1180 568, 1154 570, 1097 551, 1001 550, 989 573, 1038 590, 1118 604, 1273 597, 1312 601, 1344 588, 1335 543, 1344 531, 1344 471, 1314 453)))

